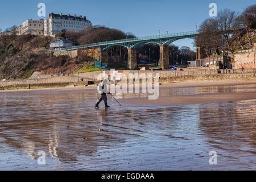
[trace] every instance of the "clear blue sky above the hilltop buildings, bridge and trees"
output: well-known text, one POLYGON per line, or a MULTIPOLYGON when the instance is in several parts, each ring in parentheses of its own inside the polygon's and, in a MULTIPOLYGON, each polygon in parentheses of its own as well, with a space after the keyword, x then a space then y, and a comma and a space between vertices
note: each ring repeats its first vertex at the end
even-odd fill
MULTIPOLYGON (((133 32, 136 36, 192 31, 209 18, 209 4, 218 10, 225 8, 238 12, 255 4, 255 0, 1 0, 0 28, 19 26, 26 19, 39 19, 38 3, 45 3, 46 16, 55 14, 86 15, 95 24, 133 32)), ((174 42, 177 46, 193 47, 193 40, 174 42)))

